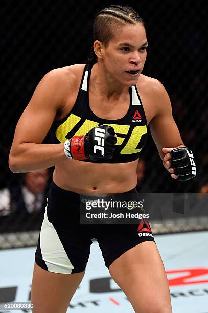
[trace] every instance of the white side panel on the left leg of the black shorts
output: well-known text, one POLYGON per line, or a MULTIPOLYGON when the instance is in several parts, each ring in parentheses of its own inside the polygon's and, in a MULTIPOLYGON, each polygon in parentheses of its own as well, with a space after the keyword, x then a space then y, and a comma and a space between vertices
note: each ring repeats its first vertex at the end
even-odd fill
POLYGON ((72 273, 74 266, 68 259, 53 224, 48 220, 47 211, 45 211, 40 230, 40 249, 42 259, 50 272, 72 273))

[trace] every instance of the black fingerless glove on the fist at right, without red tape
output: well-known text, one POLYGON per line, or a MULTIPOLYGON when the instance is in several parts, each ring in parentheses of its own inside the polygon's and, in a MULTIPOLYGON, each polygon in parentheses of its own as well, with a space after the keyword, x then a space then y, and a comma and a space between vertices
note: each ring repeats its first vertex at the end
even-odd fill
POLYGON ((196 176, 196 164, 194 155, 187 147, 180 147, 169 152, 171 154, 171 167, 175 170, 174 174, 178 176, 178 181, 191 180, 196 176))

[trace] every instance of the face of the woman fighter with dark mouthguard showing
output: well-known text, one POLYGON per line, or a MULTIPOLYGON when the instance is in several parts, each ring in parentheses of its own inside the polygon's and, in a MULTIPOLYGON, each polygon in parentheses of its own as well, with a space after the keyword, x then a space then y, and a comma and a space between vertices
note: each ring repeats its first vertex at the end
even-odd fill
POLYGON ((115 29, 107 47, 102 46, 107 75, 126 86, 134 86, 145 64, 147 44, 146 31, 141 23, 115 29))

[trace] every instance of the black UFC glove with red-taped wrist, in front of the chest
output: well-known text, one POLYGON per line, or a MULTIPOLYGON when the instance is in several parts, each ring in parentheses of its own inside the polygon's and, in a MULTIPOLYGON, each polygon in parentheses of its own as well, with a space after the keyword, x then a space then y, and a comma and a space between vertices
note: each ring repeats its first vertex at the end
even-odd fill
POLYGON ((64 143, 66 157, 74 160, 102 161, 112 158, 115 150, 115 131, 111 126, 101 125, 86 135, 73 136, 64 143))

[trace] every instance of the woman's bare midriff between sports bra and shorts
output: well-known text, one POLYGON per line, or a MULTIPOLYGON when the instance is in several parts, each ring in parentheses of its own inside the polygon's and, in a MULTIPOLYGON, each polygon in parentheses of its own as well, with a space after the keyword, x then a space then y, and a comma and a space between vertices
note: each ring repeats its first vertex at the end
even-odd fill
POLYGON ((56 165, 53 181, 76 193, 122 193, 136 186, 137 163, 138 159, 119 164, 66 160, 56 165))

